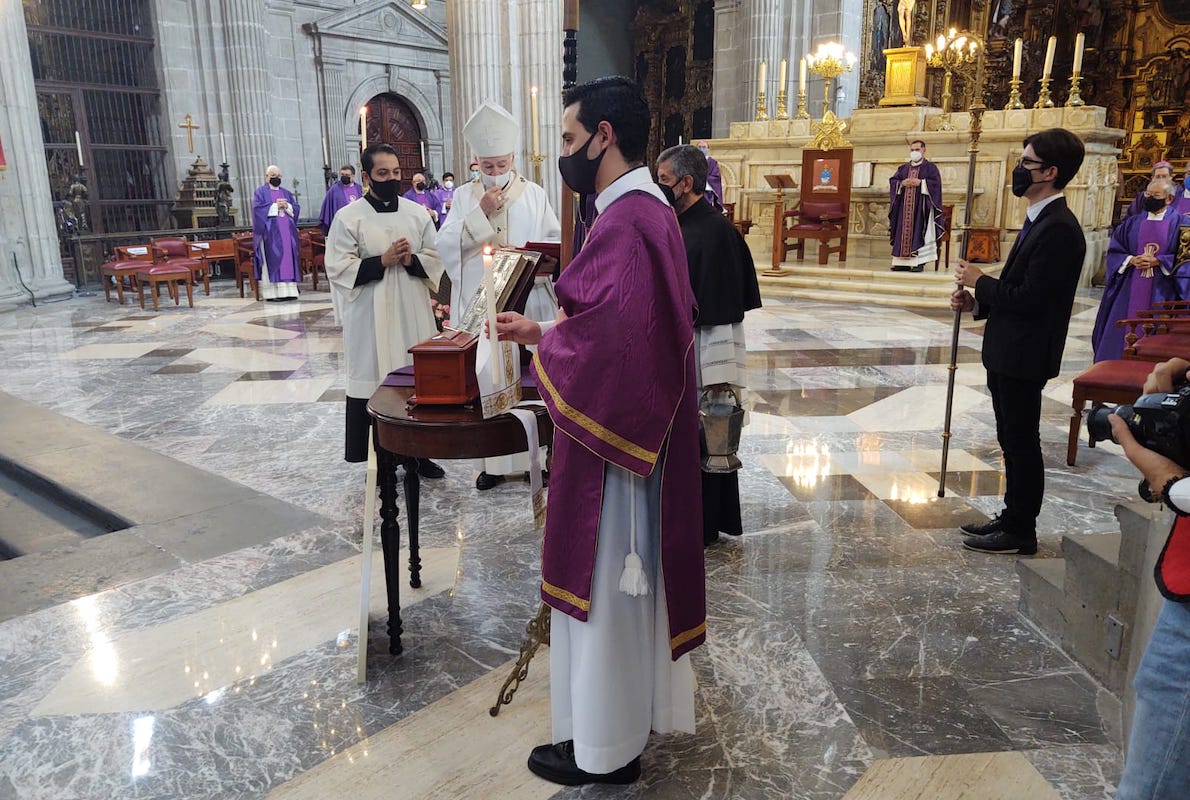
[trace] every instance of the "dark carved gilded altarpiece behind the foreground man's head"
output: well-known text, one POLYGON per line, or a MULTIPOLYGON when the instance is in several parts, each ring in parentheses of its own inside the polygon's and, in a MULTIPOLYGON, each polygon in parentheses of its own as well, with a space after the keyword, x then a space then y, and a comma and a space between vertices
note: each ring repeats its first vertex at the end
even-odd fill
POLYGON ((635 79, 652 114, 652 163, 678 140, 710 138, 714 2, 641 0, 632 31, 635 79))

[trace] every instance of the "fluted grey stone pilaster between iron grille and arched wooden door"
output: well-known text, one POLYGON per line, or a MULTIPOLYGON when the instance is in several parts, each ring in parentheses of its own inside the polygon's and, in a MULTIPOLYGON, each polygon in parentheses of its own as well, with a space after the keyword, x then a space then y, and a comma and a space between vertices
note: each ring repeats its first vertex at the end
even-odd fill
POLYGON ((231 81, 232 151, 239 186, 240 219, 252 218, 252 193, 264 182, 271 163, 273 137, 269 107, 269 37, 264 4, 259 0, 221 0, 224 48, 231 81))

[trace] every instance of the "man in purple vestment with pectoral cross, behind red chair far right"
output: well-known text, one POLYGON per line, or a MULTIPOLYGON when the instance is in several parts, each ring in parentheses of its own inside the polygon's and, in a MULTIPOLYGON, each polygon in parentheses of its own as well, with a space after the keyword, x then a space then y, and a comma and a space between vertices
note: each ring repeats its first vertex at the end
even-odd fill
MULTIPOLYGON (((1190 296, 1188 277, 1175 275, 1178 246, 1177 185, 1155 179, 1145 189, 1145 211, 1125 219, 1108 245, 1107 286, 1095 318, 1091 346, 1095 361, 1123 357, 1125 331, 1116 323, 1160 300, 1190 296)), ((1185 220, 1190 224, 1190 220, 1185 220)))

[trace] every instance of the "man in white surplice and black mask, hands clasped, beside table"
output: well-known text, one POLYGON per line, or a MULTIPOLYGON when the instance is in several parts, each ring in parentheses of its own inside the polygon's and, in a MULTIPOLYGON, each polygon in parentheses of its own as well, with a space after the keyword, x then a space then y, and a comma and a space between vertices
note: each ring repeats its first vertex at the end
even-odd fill
MULTIPOLYGON (((346 461, 368 458, 368 399, 390 371, 412 363, 409 348, 438 333, 430 292, 443 275, 433 220, 397 196, 396 151, 374 144, 359 161, 369 192, 334 215, 326 237, 326 275, 342 301, 347 362, 346 461)), ((425 460, 418 473, 443 476, 425 460)))

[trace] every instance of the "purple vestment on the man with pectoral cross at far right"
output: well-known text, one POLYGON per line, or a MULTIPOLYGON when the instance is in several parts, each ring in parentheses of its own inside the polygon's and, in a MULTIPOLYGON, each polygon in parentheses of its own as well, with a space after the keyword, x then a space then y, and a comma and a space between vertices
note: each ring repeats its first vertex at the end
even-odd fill
POLYGON ((1152 308, 1160 300, 1178 299, 1172 273, 1179 219, 1171 206, 1161 219, 1148 219, 1147 213, 1128 217, 1111 235, 1106 260, 1107 286, 1091 332, 1095 361, 1123 357, 1126 331, 1116 325, 1119 320, 1135 319, 1138 311, 1152 308), (1151 252, 1160 262, 1151 274, 1135 269, 1132 262, 1121 274, 1126 258, 1144 252, 1151 252))

